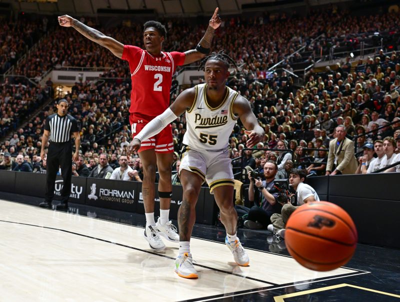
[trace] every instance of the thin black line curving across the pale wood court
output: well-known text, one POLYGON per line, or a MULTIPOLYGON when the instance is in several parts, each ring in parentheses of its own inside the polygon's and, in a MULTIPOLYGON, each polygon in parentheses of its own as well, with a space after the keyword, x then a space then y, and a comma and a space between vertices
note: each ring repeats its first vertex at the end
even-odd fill
MULTIPOLYGON (((150 251, 150 250, 145 250, 145 249, 129 246, 129 245, 122 244, 122 243, 112 242, 112 241, 109 241, 109 240, 106 240, 106 239, 101 239, 101 238, 97 238, 97 237, 93 237, 93 236, 89 236, 89 235, 84 235, 84 234, 76 233, 76 232, 73 232, 73 231, 65 230, 65 229, 62 229, 62 228, 55 228, 55 227, 50 227, 50 226, 41 226, 41 225, 36 225, 36 224, 29 224, 29 223, 22 223, 22 222, 8 221, 8 220, 0 220, 0 222, 7 222, 7 223, 14 223, 14 224, 20 224, 20 225, 28 225, 28 226, 35 226, 35 227, 52 229, 52 230, 58 230, 58 231, 62 231, 62 232, 66 232, 66 233, 70 233, 70 234, 74 234, 74 235, 90 238, 90 239, 95 239, 95 240, 99 240, 99 241, 102 241, 102 242, 107 242, 107 243, 111 243, 111 244, 127 247, 127 248, 130 248, 130 249, 135 249, 135 250, 138 250, 138 251, 146 252, 146 253, 153 254, 153 255, 156 255, 156 256, 160 256, 160 257, 164 257, 164 258, 175 260, 174 257, 170 257, 170 256, 167 256, 167 255, 159 254, 159 253, 156 253, 156 252, 153 252, 153 251, 150 251)), ((218 268, 209 267, 209 266, 202 265, 202 264, 193 263, 193 265, 196 265, 196 266, 199 266, 199 267, 203 267, 203 268, 206 268, 206 269, 210 269, 210 270, 214 270, 214 271, 218 271, 218 272, 222 272, 222 273, 226 273, 226 274, 230 274, 230 275, 234 275, 234 276, 237 276, 237 277, 240 277, 240 278, 245 278, 245 279, 249 279, 249 280, 253 280, 253 281, 257 281, 257 282, 261 282, 261 283, 266 283, 266 284, 271 284, 271 286, 278 286, 279 285, 277 283, 268 282, 268 281, 260 280, 260 279, 253 278, 253 277, 243 276, 243 275, 240 275, 240 274, 237 274, 237 273, 229 272, 229 271, 218 269, 218 268)), ((268 287, 269 286, 266 286, 265 288, 268 288, 268 287)))

